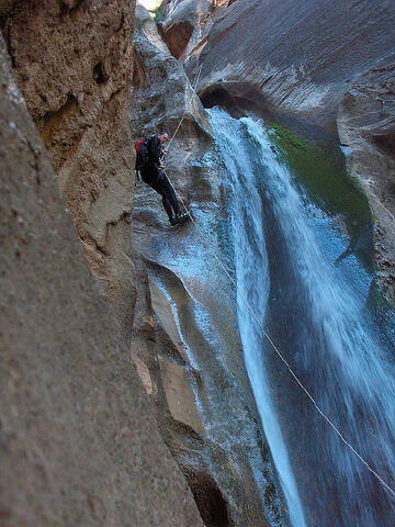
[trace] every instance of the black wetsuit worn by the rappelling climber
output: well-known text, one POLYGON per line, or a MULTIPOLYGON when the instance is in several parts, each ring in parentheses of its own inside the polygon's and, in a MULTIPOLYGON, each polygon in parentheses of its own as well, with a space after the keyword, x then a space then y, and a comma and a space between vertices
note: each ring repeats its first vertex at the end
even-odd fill
POLYGON ((180 214, 180 206, 176 198, 174 189, 163 170, 159 168, 162 148, 157 135, 151 135, 148 138, 147 149, 148 162, 139 170, 142 179, 162 197, 165 211, 171 221, 174 215, 178 216, 180 214))

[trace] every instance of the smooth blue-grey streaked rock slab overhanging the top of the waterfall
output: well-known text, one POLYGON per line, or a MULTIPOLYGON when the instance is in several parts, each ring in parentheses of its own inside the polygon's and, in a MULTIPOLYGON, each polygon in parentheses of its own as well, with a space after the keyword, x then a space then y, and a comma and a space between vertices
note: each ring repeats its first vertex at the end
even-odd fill
POLYGON ((394 48, 394 20, 392 2, 235 2, 210 32, 200 92, 218 83, 330 124, 353 79, 394 48))

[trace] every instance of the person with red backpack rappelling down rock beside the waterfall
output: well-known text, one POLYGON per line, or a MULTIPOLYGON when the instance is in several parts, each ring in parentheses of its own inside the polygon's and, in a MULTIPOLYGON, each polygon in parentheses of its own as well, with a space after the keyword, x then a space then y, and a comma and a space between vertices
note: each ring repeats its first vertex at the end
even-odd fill
POLYGON ((170 225, 183 223, 189 213, 182 213, 176 197, 174 189, 165 173, 163 156, 167 154, 165 143, 169 141, 167 132, 154 134, 146 139, 136 143, 136 175, 142 177, 146 184, 149 184, 162 197, 162 204, 169 217, 170 225))

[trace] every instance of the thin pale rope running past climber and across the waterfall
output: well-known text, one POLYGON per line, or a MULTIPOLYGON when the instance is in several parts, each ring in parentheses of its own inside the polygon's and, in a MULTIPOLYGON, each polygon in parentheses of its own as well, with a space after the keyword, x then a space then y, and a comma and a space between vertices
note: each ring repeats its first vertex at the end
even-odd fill
MULTIPOLYGON (((200 77, 200 74, 202 71, 202 66, 203 64, 200 66, 199 70, 198 70, 198 74, 196 74, 196 77, 195 77, 195 81, 193 83, 193 90, 195 90, 196 86, 198 86, 198 81, 199 81, 199 77, 200 77)), ((190 102, 192 101, 192 98, 193 98, 193 94, 191 96, 191 99, 189 101, 189 104, 190 102)), ((189 106, 188 104, 188 106, 189 106)), ((176 128, 176 132, 173 133, 171 139, 169 141, 169 145, 168 147, 170 146, 170 143, 172 142, 172 139, 174 138, 177 132, 179 131, 180 126, 181 126, 181 123, 184 119, 187 114, 187 108, 183 112, 183 115, 180 120, 180 123, 179 125, 177 126, 176 128)), ((351 450, 351 452, 366 467, 366 469, 380 481, 380 483, 395 497, 395 491, 383 480, 383 478, 381 478, 377 472, 372 469, 372 467, 368 463, 368 461, 365 459, 362 458, 362 456, 352 447, 352 445, 350 445, 350 442, 348 442, 348 440, 345 438, 345 436, 341 434, 341 431, 336 427, 336 425, 329 419, 329 417, 325 414, 325 412, 319 407, 318 403, 316 402, 316 400, 314 399, 314 396, 311 394, 311 392, 307 390, 307 388, 305 388, 305 385, 302 383, 302 381, 298 379, 298 377, 296 375, 296 373, 293 371, 293 369, 291 368, 289 361, 285 359, 285 357, 280 352, 280 350, 278 349, 278 347, 275 346, 275 344, 273 343, 273 340, 271 339, 271 337, 268 335, 268 333, 264 330, 263 328, 263 325, 262 323, 260 322, 260 319, 258 318, 258 316, 255 314, 252 307, 250 306, 248 300, 244 296, 244 294, 240 292, 240 289, 236 282, 236 280, 232 277, 230 272, 228 271, 228 269, 226 268, 226 266, 222 262, 222 260, 219 259, 219 257, 217 256, 217 254, 215 253, 215 250, 212 248, 211 244, 210 244, 210 240, 207 239, 207 237, 204 235, 204 233, 202 232, 202 229, 199 227, 198 223, 195 222, 195 220, 193 218, 191 212, 189 211, 189 209, 187 208, 185 203, 183 202, 181 195, 179 194, 179 192, 177 191, 177 189, 174 188, 174 186, 172 184, 169 176, 167 175, 167 172, 163 170, 163 172, 166 173, 167 178, 169 179, 169 182, 171 184, 171 187, 173 188, 174 192, 176 192, 176 195, 178 197, 178 199, 180 200, 180 202, 182 203, 182 206, 184 208, 185 210, 185 213, 188 214, 188 216, 190 217, 190 220, 192 221, 192 223, 195 225, 195 227, 198 228, 198 231, 200 232, 200 234, 202 235, 202 238, 206 245, 206 247, 208 248, 208 250, 212 253, 212 255, 214 256, 215 260, 217 261, 218 266, 224 270, 225 274, 228 277, 228 279, 230 280, 230 282, 235 285, 236 288, 236 292, 239 296, 239 299, 241 300, 241 302, 245 304, 245 306, 247 307, 247 310, 249 311, 250 315, 255 318, 255 321, 257 322, 258 326, 260 327, 262 334, 266 336, 266 338, 268 339, 269 344, 272 346, 272 348, 274 349, 274 351, 276 352, 276 355, 280 357, 280 359, 283 361, 283 363, 286 366, 286 369, 290 371, 291 375, 294 378, 294 380, 296 381, 296 383, 301 386, 301 389, 305 392, 305 394, 307 395, 307 397, 311 400, 311 402, 313 403, 314 407, 316 408, 316 411, 319 413, 319 415, 328 423, 328 425, 335 430, 335 433, 339 436, 339 438, 341 439, 341 441, 351 450)))

